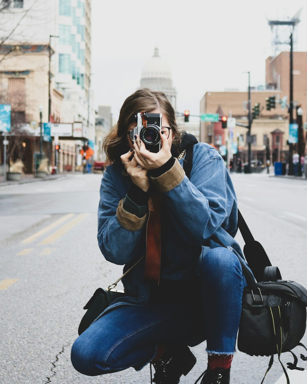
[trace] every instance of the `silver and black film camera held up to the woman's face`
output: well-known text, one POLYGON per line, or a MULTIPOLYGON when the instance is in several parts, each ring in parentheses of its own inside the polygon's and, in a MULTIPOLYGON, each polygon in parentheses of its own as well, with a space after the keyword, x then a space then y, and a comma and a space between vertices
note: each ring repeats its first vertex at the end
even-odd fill
POLYGON ((162 113, 147 113, 143 114, 147 120, 147 127, 143 126, 141 113, 135 116, 137 126, 129 132, 131 140, 134 140, 134 135, 139 135, 148 151, 157 153, 161 149, 160 131, 162 126, 162 113))

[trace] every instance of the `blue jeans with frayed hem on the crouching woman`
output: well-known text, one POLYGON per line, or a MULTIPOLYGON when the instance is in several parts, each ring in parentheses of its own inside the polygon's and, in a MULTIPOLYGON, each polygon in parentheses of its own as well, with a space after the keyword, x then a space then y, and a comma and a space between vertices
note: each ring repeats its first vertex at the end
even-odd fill
POLYGON ((157 344, 194 346, 207 339, 207 352, 233 354, 246 285, 236 255, 211 249, 200 259, 199 285, 186 287, 193 300, 114 308, 83 332, 71 349, 75 369, 88 376, 141 369, 157 344))

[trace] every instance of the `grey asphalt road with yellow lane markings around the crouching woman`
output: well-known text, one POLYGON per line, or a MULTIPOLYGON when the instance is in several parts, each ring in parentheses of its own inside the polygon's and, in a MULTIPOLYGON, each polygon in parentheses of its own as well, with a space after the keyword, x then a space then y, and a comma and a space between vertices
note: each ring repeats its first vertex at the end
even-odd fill
MULTIPOLYGON (((73 369, 70 349, 83 306, 99 286, 121 275, 106 262, 96 240, 101 175, 0 188, 0 382, 149 383, 149 367, 86 377, 73 369)), ((307 180, 266 174, 233 174, 239 208, 254 237, 282 276, 307 286, 307 180)), ((237 239, 243 245, 241 235, 237 239)), ((304 336, 303 343, 307 344, 304 336)), ((194 347, 197 364, 181 384, 194 383, 206 368, 206 343, 194 347)), ((297 350, 297 355, 304 351, 297 350)), ((290 353, 284 363, 292 361, 290 353)), ((261 383, 268 358, 236 353, 232 383, 261 383)), ((299 366, 307 369, 300 360, 299 366)), ((307 382, 306 372, 293 384, 307 382)), ((293 371, 290 372, 293 374, 293 371)), ((277 362, 265 383, 284 383, 277 362), (279 380, 279 381, 278 381, 279 380)))

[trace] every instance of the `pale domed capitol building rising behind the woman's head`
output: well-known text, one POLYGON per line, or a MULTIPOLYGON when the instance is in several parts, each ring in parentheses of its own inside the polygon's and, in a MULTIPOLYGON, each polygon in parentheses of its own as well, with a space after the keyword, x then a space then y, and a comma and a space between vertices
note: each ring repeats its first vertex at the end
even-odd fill
POLYGON ((158 48, 154 48, 153 57, 143 67, 140 85, 140 88, 150 88, 153 91, 164 92, 176 111, 177 92, 173 88, 171 69, 159 56, 158 48))

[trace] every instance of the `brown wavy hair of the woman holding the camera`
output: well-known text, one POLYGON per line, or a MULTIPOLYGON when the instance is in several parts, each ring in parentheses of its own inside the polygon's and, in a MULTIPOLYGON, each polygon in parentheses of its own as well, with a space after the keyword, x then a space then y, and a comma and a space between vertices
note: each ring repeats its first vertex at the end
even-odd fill
POLYGON ((138 89, 131 96, 126 98, 119 112, 117 124, 103 140, 103 151, 106 154, 106 163, 121 164, 120 156, 128 152, 127 130, 135 121, 135 115, 141 111, 150 113, 159 108, 168 119, 174 134, 174 144, 181 141, 181 132, 178 129, 175 111, 166 95, 160 91, 152 91, 149 88, 138 89))

